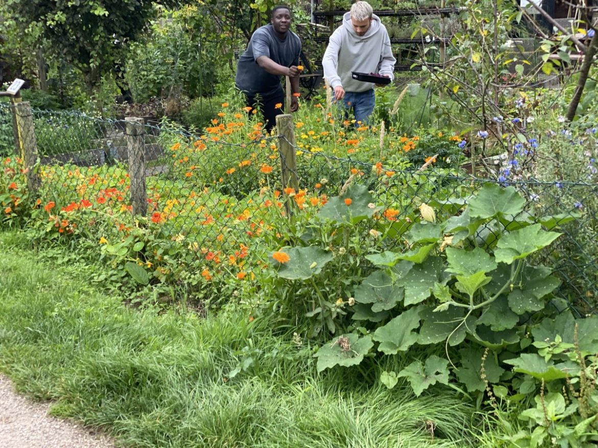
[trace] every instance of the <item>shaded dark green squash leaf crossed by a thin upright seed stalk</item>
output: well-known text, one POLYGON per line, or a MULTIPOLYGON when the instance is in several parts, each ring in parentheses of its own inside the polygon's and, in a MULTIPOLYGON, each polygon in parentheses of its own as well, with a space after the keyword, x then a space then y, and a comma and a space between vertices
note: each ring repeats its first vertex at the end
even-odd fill
POLYGON ((496 358, 492 352, 483 361, 484 349, 482 348, 462 348, 459 350, 459 354, 461 355, 461 363, 455 374, 459 381, 465 385, 468 392, 483 392, 486 389, 486 382, 481 378, 482 362, 484 362, 484 372, 489 383, 498 383, 501 375, 505 372, 505 369, 502 369, 496 363, 496 358))

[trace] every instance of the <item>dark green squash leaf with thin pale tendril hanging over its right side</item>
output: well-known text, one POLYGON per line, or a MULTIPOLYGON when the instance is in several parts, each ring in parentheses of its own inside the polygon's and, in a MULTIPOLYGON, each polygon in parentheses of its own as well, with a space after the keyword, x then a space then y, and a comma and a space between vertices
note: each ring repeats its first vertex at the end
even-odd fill
POLYGON ((465 309, 451 306, 446 311, 432 311, 424 308, 420 312, 422 327, 419 330, 417 343, 421 345, 444 342, 449 338, 449 345, 455 346, 465 340, 468 330, 475 328, 475 317, 469 316, 465 322, 465 309))

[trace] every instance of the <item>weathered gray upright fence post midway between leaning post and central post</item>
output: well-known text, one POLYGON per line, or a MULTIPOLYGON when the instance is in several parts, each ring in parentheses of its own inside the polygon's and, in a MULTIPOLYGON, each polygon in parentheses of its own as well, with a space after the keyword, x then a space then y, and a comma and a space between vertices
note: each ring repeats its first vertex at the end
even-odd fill
POLYGON ((145 216, 148 209, 145 188, 145 128, 144 119, 125 118, 127 123, 127 152, 129 152, 129 180, 133 216, 145 216))

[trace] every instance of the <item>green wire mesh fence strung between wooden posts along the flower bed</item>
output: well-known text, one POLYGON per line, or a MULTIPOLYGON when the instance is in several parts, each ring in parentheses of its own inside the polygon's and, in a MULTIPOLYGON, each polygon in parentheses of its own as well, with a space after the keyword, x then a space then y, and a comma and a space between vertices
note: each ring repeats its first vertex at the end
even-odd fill
MULTIPOLYGON (((16 152, 10 107, 0 103, 4 157, 16 152)), ((134 225, 130 211, 140 201, 132 190, 142 185, 147 217, 161 225, 163 237, 207 260, 246 256, 268 244, 280 245, 289 214, 313 213, 310 210, 349 184, 367 186, 382 209, 380 218, 401 234, 399 229, 416 219, 420 204, 432 204, 447 216, 458 214, 472 191, 487 182, 499 183, 457 169, 386 171, 380 162, 309 151, 288 136, 264 136, 258 125, 244 117, 194 133, 172 123, 138 124, 132 132, 130 121, 73 112, 30 115, 39 158, 38 169, 31 171, 39 174, 39 195, 45 204, 67 210, 101 205, 105 213, 113 214, 114 225, 126 231, 134 225), (283 145, 291 152, 282 151, 283 145), (296 162, 288 160, 289 154, 296 162), (283 182, 285 173, 297 185, 283 182), (292 207, 285 206, 289 202, 292 207)), ((32 143, 32 136, 20 138, 21 149, 32 143)), ((33 165, 30 156, 21 156, 25 165, 33 165)), ((553 266, 562 279, 557 294, 575 304, 580 314, 595 312, 598 186, 536 180, 509 185, 526 200, 524 211, 512 220, 539 220, 546 225, 542 216, 550 215, 554 217, 550 226, 563 234, 537 256, 539 263, 553 266)), ((498 230, 487 226, 483 232, 498 230)), ((398 244, 402 244, 398 238, 386 241, 388 248, 398 244)), ((264 259, 264 253, 255 256, 264 259)))

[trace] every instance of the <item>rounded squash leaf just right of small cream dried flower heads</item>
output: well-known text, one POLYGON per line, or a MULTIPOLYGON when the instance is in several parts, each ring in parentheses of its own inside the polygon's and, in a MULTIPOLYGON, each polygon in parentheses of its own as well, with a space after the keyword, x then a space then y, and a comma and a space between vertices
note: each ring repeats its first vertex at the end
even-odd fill
POLYGON ((382 270, 372 272, 355 288, 355 302, 373 303, 373 312, 395 308, 403 297, 402 287, 393 284, 390 275, 382 270))

